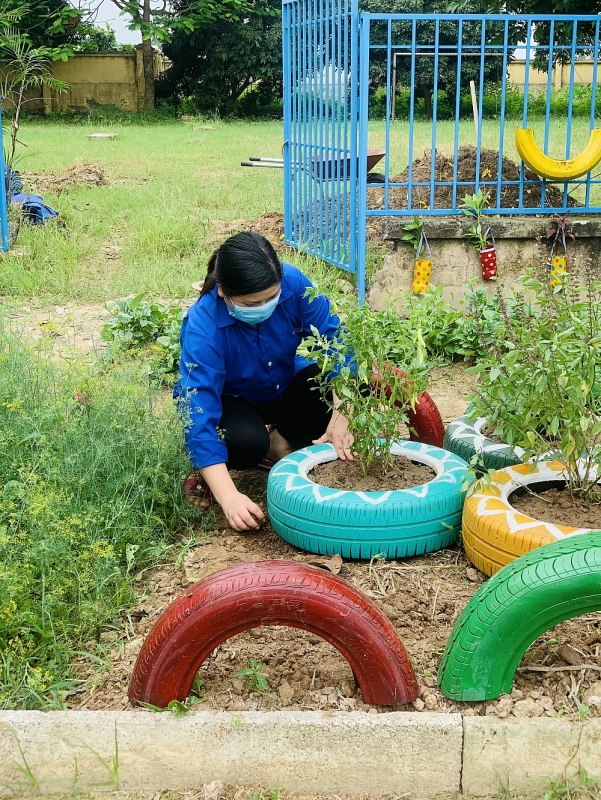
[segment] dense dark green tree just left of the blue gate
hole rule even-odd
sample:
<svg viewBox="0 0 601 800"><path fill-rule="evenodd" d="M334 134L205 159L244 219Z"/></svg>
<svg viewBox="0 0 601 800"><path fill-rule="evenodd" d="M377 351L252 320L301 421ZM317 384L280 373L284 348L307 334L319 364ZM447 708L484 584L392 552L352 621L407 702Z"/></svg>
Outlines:
<svg viewBox="0 0 601 800"><path fill-rule="evenodd" d="M282 94L281 0L253 0L237 22L178 31L165 54L173 66L161 79L164 97L193 97L200 111L224 116L256 87L267 104Z"/></svg>

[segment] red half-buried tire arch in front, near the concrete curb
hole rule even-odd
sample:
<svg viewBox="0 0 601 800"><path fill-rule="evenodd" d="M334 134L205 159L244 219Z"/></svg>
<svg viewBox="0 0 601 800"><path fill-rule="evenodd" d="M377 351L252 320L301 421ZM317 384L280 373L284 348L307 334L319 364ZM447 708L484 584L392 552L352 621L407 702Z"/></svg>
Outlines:
<svg viewBox="0 0 601 800"><path fill-rule="evenodd" d="M232 636L287 625L320 636L349 662L366 703L410 703L419 686L397 632L361 592L318 567L256 561L191 586L142 646L129 699L165 708L184 701L204 660Z"/></svg>

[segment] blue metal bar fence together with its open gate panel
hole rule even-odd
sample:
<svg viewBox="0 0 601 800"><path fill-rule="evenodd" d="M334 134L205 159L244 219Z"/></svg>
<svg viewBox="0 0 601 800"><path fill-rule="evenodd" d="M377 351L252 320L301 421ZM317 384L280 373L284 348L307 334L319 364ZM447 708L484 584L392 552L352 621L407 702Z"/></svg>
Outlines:
<svg viewBox="0 0 601 800"><path fill-rule="evenodd" d="M283 18L285 239L356 272L361 299L370 219L458 214L463 196L478 189L489 192L491 214L601 211L595 171L553 185L527 171L514 144L516 127L534 127L544 154L569 159L580 151L581 134L588 138L601 110L600 17L359 14L357 0L284 0ZM526 71L515 119L507 70L518 47ZM592 85L584 101L587 117L575 135L583 56L592 59ZM552 115L556 62L570 64L563 117ZM542 99L530 85L530 64L547 70ZM465 119L470 80L475 120L469 102ZM491 83L499 97L494 120L485 114ZM377 87L385 93L383 121L370 120ZM403 120L395 108L399 88L406 102ZM468 174L460 163L466 145L473 151ZM368 169L374 154L375 160L383 155L378 176Z"/></svg>

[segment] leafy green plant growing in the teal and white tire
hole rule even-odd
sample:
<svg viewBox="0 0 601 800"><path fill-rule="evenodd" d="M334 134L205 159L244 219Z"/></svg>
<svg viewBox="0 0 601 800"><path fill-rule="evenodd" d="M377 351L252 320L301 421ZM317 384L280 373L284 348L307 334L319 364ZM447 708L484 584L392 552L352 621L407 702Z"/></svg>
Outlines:
<svg viewBox="0 0 601 800"><path fill-rule="evenodd" d="M403 406L414 406L426 387L421 331L409 330L392 309L348 304L339 313L344 327L337 340L329 342L313 329L299 353L317 362L322 390L331 386L338 397L363 474L376 458L385 472L394 458L390 444L399 438L400 423L407 422Z"/></svg>

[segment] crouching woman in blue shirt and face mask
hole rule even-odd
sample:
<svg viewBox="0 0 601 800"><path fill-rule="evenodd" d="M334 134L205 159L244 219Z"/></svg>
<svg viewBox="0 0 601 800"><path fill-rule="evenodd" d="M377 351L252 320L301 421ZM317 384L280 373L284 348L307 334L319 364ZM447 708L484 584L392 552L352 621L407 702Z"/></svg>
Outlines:
<svg viewBox="0 0 601 800"><path fill-rule="evenodd" d="M333 338L340 325L326 297L306 297L311 286L300 270L280 264L263 236L239 233L212 255L184 319L175 393L188 414L186 445L202 475L204 505L215 497L235 530L257 528L264 515L229 470L322 442L352 459L347 420L332 410L336 398L323 397L317 366L296 354L311 327Z"/></svg>

